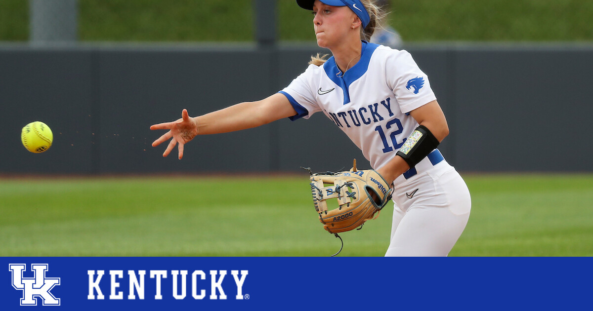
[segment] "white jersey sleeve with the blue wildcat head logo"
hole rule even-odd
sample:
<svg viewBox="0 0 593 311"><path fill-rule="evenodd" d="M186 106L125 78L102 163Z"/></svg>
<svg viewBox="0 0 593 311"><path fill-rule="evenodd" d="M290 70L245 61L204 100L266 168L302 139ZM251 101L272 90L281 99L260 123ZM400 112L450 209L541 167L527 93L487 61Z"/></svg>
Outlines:
<svg viewBox="0 0 593 311"><path fill-rule="evenodd" d="M385 66L387 83L400 105L401 112L409 113L436 100L428 76L416 65L412 55L405 50L388 57Z"/></svg>

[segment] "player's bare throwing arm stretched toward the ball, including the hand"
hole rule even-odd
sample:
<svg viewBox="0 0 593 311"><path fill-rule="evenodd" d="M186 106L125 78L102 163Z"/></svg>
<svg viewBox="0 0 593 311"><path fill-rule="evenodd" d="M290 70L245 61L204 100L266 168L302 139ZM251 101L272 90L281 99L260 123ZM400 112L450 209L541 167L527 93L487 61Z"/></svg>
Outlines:
<svg viewBox="0 0 593 311"><path fill-rule="evenodd" d="M152 143L158 146L171 139L162 156L168 156L177 145L178 158L183 158L183 148L197 135L235 132L262 126L281 118L292 117L297 111L285 95L276 93L260 101L241 102L198 117L189 117L187 110L173 122L154 124L151 130L169 130Z"/></svg>

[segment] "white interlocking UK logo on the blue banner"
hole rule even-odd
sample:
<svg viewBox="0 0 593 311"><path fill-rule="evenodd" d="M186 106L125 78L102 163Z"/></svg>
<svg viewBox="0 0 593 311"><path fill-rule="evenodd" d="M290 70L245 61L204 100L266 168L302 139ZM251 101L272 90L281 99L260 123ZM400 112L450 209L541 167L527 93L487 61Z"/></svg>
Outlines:
<svg viewBox="0 0 593 311"><path fill-rule="evenodd" d="M33 277L25 278L25 264L8 265L8 270L12 272L12 287L23 291L21 306L37 306L37 298L43 300L43 306L60 305L60 299L50 293L54 286L60 285L60 278L47 278L47 267L47 264L31 264Z"/></svg>

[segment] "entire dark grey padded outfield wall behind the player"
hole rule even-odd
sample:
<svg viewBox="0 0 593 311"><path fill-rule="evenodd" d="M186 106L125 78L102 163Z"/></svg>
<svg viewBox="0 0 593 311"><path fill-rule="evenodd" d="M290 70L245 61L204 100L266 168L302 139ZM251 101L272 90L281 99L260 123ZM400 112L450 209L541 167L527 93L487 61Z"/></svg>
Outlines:
<svg viewBox="0 0 593 311"><path fill-rule="evenodd" d="M441 145L466 172L593 171L593 45L406 46L448 118ZM275 172L349 168L362 153L323 114L197 137L162 158L149 126L282 89L317 46L0 45L0 174ZM322 51L323 52L323 51ZM27 152L40 120L55 142Z"/></svg>

